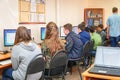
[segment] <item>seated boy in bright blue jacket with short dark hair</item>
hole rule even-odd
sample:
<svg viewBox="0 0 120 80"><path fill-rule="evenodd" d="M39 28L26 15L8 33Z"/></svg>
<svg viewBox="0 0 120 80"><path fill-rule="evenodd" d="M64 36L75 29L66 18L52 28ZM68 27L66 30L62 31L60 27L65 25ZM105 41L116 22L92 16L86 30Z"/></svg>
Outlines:
<svg viewBox="0 0 120 80"><path fill-rule="evenodd" d="M78 25L78 33L80 35L80 39L83 42L83 45L87 42L90 41L90 33L85 31L85 24L79 24Z"/></svg>

